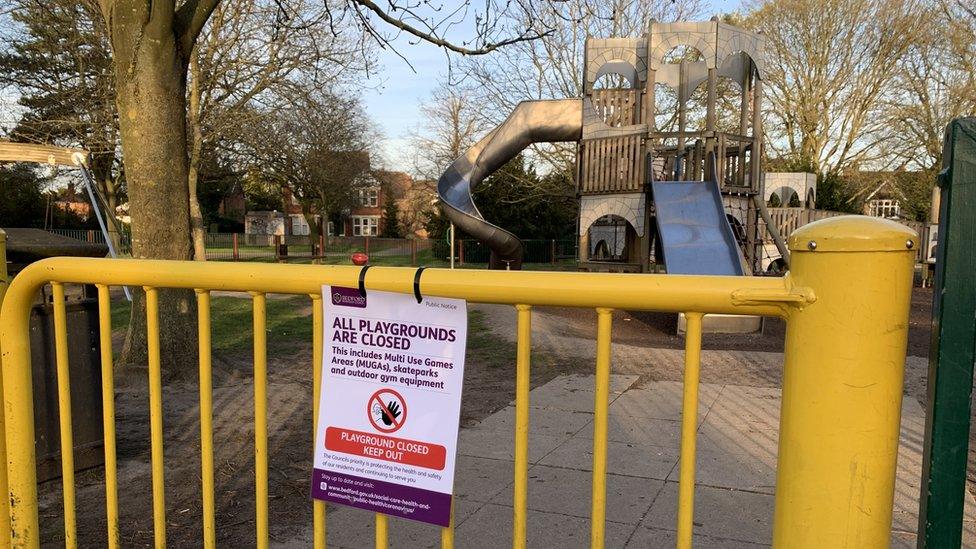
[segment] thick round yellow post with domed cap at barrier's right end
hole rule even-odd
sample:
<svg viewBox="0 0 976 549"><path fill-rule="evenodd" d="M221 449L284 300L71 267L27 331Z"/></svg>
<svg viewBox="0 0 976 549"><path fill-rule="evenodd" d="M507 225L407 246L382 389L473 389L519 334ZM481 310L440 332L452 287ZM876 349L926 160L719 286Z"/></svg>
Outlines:
<svg viewBox="0 0 976 549"><path fill-rule="evenodd" d="M816 301L787 320L773 546L888 547L918 236L844 216L789 239L791 283Z"/></svg>

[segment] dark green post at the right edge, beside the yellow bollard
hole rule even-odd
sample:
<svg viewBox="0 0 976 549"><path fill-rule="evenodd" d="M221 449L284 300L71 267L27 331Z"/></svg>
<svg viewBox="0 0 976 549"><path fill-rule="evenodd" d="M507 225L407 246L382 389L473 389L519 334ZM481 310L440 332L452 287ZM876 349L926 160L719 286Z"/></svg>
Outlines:
<svg viewBox="0 0 976 549"><path fill-rule="evenodd" d="M946 130L933 288L919 547L962 546L976 361L976 118Z"/></svg>

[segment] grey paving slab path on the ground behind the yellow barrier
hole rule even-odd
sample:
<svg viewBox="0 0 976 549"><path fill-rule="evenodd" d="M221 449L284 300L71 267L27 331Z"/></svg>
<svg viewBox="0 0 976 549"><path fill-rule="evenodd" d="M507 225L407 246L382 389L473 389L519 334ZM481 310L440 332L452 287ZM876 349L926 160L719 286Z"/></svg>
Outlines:
<svg viewBox="0 0 976 549"><path fill-rule="evenodd" d="M611 379L607 547L674 547L681 384ZM768 547L772 540L780 391L703 383L698 415L695 546ZM593 378L560 376L531 392L529 547L589 541ZM514 406L461 431L455 520L460 547L511 543ZM925 419L905 397L892 547L914 547ZM976 505L967 500L965 541L976 546ZM330 547L372 544L368 513L335 508ZM392 547L439 547L439 529L391 519ZM284 547L307 547L307 538Z"/></svg>

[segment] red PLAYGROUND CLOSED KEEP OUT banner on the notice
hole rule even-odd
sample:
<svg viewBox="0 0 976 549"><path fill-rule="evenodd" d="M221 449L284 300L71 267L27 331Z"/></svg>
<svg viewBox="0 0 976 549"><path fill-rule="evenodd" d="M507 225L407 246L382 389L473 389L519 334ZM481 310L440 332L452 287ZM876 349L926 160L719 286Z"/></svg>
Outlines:
<svg viewBox="0 0 976 549"><path fill-rule="evenodd" d="M447 449L439 444L429 444L405 438L388 437L341 427L325 430L325 447L334 452L382 459L427 469L444 469Z"/></svg>

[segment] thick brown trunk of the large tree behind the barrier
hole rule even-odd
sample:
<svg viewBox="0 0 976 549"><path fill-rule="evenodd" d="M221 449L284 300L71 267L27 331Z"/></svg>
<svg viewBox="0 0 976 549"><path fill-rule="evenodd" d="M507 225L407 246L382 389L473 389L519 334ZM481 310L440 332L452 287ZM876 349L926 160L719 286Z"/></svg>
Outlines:
<svg viewBox="0 0 976 549"><path fill-rule="evenodd" d="M136 10L126 11L116 10L112 38L132 256L188 260L185 66L171 31L150 28ZM136 292L132 305L119 361L123 371L147 362L145 294ZM194 377L195 317L192 291L160 290L160 351L168 379Z"/></svg>

